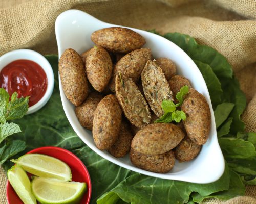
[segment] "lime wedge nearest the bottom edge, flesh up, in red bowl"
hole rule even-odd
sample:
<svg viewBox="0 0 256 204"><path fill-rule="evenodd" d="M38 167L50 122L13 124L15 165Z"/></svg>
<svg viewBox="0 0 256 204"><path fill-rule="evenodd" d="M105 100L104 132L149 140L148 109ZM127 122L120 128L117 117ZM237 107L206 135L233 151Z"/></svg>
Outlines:
<svg viewBox="0 0 256 204"><path fill-rule="evenodd" d="M35 177L31 186L36 199L44 204L79 203L86 191L86 183L65 182L42 177Z"/></svg>

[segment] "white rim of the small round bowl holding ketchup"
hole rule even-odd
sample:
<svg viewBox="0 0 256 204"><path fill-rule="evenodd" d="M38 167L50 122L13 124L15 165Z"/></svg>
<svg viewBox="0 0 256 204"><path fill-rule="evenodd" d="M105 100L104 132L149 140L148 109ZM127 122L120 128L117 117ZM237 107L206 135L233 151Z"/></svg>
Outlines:
<svg viewBox="0 0 256 204"><path fill-rule="evenodd" d="M45 95L33 106L29 107L26 114L34 113L40 108L45 106L47 101L50 99L54 87L54 75L53 70L48 60L41 54L31 49L16 49L9 53L6 53L0 57L0 71L9 63L15 60L31 60L39 64L42 69L46 72L47 76L47 89Z"/></svg>

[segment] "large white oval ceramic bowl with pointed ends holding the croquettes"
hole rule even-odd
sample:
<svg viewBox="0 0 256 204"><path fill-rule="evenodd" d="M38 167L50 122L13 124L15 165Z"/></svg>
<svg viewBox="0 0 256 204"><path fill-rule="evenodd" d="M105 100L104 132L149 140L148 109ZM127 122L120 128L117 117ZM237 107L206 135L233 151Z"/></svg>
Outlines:
<svg viewBox="0 0 256 204"><path fill-rule="evenodd" d="M79 10L68 10L61 13L55 22L59 57L67 48L73 48L78 53L82 53L91 48L94 45L90 39L91 34L98 29L112 26L113 24L102 22ZM203 145L200 154L190 162L179 163L176 161L172 171L165 174L160 174L135 167L130 162L128 155L124 158L117 159L110 155L107 151L99 150L94 144L92 132L84 129L79 124L74 112L74 106L68 101L63 93L61 81L59 79L62 105L70 124L77 135L92 150L94 150L101 157L124 168L163 179L194 183L210 183L218 180L224 172L224 158L217 139L214 112L212 110L209 92L202 74L193 60L191 60L188 55L174 43L153 33L133 28L130 29L139 33L146 39L146 44L144 47L151 48L155 58L167 57L172 59L177 66L177 73L184 75L184 77L189 79L191 85L205 96L211 111L211 129L209 139L206 144Z"/></svg>

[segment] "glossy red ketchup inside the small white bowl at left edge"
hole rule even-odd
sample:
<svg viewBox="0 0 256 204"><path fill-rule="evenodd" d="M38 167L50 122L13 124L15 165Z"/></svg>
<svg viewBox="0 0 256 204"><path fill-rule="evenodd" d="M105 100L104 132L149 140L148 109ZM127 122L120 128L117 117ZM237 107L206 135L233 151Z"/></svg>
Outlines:
<svg viewBox="0 0 256 204"><path fill-rule="evenodd" d="M18 98L30 96L29 106L33 106L46 93L46 72L31 60L15 60L1 70L0 87L10 96L15 91Z"/></svg>

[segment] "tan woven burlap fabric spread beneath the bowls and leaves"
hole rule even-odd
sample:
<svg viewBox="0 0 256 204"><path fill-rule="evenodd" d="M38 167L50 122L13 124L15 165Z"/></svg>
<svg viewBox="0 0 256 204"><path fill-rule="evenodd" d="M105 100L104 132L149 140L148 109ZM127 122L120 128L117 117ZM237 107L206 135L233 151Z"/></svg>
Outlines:
<svg viewBox="0 0 256 204"><path fill-rule="evenodd" d="M160 33L181 32L222 53L233 66L247 108L242 116L246 131L256 131L256 1L255 0L1 0L0 55L17 48L57 54L56 17L67 9L80 9L96 18ZM6 175L0 171L0 203L6 203ZM255 186L246 195L226 202L256 203Z"/></svg>

